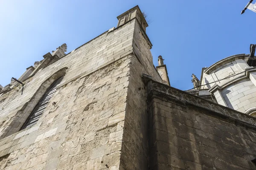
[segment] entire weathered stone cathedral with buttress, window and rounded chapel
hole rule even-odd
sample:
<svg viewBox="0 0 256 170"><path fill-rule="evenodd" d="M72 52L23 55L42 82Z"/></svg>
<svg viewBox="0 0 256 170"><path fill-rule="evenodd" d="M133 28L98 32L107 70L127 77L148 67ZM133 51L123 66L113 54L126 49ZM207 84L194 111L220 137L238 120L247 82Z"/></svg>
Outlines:
<svg viewBox="0 0 256 170"><path fill-rule="evenodd" d="M181 91L165 56L153 65L140 8L117 20L0 86L0 169L255 170L255 45Z"/></svg>

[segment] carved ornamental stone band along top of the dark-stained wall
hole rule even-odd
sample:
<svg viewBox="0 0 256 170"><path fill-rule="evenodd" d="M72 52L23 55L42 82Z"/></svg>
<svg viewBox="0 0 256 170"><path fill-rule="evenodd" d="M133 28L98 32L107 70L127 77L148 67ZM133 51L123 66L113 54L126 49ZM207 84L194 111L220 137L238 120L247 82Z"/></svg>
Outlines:
<svg viewBox="0 0 256 170"><path fill-rule="evenodd" d="M153 90L153 91L157 91L157 92L160 92L160 93L163 93L163 94L167 94L167 95L172 96L173 98L175 98L177 100L180 100L180 101L192 104L192 105L196 105L196 106L199 106L201 108L205 108L205 109L208 109L210 111L220 113L224 116L228 116L228 117L231 117L233 119L239 120L241 122L245 122L245 123L248 123L250 125L256 126L256 119L253 118L252 116L241 113L239 111L232 110L230 108L226 108L224 106L221 106L221 105L218 105L216 103L207 101L205 99L194 96L192 94L180 91L180 90L172 88L170 86L163 85L159 82L155 82L155 81L151 81L151 82L152 82L151 91Z"/></svg>

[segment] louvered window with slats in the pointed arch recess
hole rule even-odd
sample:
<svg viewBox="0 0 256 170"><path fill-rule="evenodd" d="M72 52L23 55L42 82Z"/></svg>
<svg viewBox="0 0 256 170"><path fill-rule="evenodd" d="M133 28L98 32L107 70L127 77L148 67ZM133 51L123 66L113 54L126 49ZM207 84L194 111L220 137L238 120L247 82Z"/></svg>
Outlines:
<svg viewBox="0 0 256 170"><path fill-rule="evenodd" d="M44 113L44 110L47 107L49 100L55 94L56 89L57 89L58 85L61 83L61 80L63 79L63 77L64 76L58 78L57 80L55 80L55 82L52 83L52 85L48 88L48 90L45 92L44 96L41 98L41 100L35 106L34 110L32 111L29 118L26 120L26 122L24 123L24 125L21 127L20 130L25 129L27 127L31 127L32 125L35 125L38 122L38 119Z"/></svg>

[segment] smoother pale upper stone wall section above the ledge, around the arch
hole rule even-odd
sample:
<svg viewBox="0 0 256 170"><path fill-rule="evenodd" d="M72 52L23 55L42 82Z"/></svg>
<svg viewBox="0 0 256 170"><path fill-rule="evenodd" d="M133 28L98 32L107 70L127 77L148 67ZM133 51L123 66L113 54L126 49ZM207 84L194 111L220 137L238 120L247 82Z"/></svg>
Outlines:
<svg viewBox="0 0 256 170"><path fill-rule="evenodd" d="M103 33L61 59L39 70L35 76L25 81L23 87L20 85L16 89L7 92L7 94L0 96L0 139L17 132L17 129L23 125L28 116L22 114L24 106L31 104L31 108L35 107L38 100L44 94L44 91L40 92L41 95L37 99L33 99L33 96L42 83L61 68L68 69L60 86L91 74L111 62L132 53L134 24L135 20L131 20L119 28ZM23 115L23 117L20 115ZM15 116L16 118L22 117L22 119L16 120ZM15 121L13 121L14 119ZM9 129L10 126L16 127L16 130Z"/></svg>

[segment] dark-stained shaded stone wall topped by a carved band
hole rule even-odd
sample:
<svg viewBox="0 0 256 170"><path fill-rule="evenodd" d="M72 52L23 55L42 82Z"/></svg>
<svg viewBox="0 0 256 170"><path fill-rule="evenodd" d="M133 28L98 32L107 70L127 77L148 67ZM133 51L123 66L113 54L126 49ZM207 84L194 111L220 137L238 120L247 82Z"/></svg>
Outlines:
<svg viewBox="0 0 256 170"><path fill-rule="evenodd" d="M148 112L151 170L256 169L255 118L157 82Z"/></svg>

